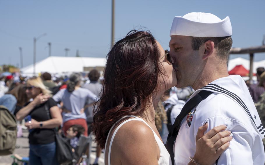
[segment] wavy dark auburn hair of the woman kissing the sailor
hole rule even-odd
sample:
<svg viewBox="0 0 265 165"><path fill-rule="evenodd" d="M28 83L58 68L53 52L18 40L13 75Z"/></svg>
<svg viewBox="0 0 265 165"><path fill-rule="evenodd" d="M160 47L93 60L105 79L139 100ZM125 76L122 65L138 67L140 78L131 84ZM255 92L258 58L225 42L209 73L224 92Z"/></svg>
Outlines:
<svg viewBox="0 0 265 165"><path fill-rule="evenodd" d="M142 114L149 105L163 74L159 59L160 50L149 31L130 31L107 54L103 89L98 107L93 108L93 131L100 148L117 120Z"/></svg>

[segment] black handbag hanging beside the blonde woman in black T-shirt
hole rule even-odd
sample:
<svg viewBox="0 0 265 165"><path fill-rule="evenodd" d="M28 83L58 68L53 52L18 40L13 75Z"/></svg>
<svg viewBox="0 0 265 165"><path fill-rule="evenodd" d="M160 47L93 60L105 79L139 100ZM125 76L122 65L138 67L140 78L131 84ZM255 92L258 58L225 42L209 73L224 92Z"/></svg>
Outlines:
<svg viewBox="0 0 265 165"><path fill-rule="evenodd" d="M45 111L49 119L51 119L50 109L47 104L45 104ZM72 146L69 144L66 138L63 138L55 128L53 129L55 133L56 142L56 157L59 164L73 164L76 162L75 154L72 151Z"/></svg>

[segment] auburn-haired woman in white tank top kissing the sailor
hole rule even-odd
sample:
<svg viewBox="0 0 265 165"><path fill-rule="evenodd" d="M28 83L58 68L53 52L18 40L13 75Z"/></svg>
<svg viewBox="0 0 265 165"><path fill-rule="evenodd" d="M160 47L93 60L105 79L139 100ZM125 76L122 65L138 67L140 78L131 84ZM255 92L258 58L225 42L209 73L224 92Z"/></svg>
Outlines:
<svg viewBox="0 0 265 165"><path fill-rule="evenodd" d="M173 62L149 32L130 31L109 51L93 119L106 165L171 164L154 118L160 96L177 84ZM203 135L206 128L199 128L196 152L190 156L213 164L228 148L229 132L220 137L225 126L218 126Z"/></svg>

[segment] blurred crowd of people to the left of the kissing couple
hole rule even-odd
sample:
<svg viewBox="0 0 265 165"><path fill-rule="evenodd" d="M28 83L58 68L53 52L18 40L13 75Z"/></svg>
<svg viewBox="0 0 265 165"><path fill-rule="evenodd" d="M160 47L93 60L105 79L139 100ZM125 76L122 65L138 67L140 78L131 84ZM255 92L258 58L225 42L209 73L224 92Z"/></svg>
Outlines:
<svg viewBox="0 0 265 165"><path fill-rule="evenodd" d="M25 120L29 130L29 164L58 164L56 132L62 132L73 148L81 134L91 133L92 107L101 91L100 73L94 69L88 77L90 82L84 82L81 74L73 73L59 84L47 72L20 81L13 76L2 78L0 105L17 121ZM100 153L98 148L93 164Z"/></svg>

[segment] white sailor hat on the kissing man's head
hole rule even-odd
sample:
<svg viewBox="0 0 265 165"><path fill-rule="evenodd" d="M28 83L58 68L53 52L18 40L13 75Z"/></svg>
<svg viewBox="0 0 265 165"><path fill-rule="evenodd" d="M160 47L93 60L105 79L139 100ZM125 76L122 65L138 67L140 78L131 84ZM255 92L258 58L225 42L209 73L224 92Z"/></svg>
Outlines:
<svg viewBox="0 0 265 165"><path fill-rule="evenodd" d="M211 13L190 12L174 17L170 37L172 35L226 37L232 35L232 26L229 17L221 20Z"/></svg>

